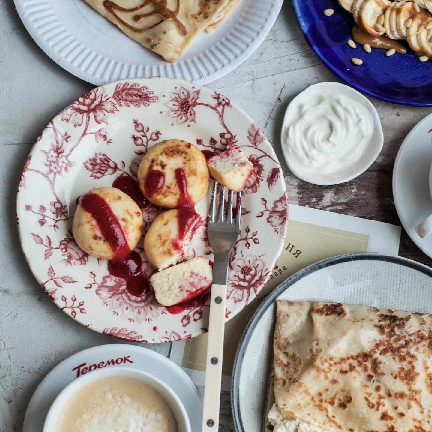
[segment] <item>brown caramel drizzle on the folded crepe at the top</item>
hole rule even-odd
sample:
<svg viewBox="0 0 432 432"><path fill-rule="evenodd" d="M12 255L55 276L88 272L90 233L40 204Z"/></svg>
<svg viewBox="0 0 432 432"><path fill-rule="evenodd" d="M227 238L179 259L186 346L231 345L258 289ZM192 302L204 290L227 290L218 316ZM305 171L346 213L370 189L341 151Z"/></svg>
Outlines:
<svg viewBox="0 0 432 432"><path fill-rule="evenodd" d="M168 19L172 19L176 25L177 29L180 32L182 36L187 35L187 29L183 25L183 23L177 18L178 12L180 10L180 0L177 0L177 7L175 10L171 10L167 7L167 0L145 0L144 3L137 7L132 7L130 9L124 8L122 6L119 6L118 4L114 3L111 0L105 0L103 5L108 9L108 11L115 16L115 18L123 24L128 29L132 30L133 32L137 33L143 33L146 32L149 29L152 29L153 27L156 27L156 25L159 25L161 22L167 21ZM121 19L115 11L120 12L137 12L141 9L143 9L146 6L153 5L154 9L152 12L149 13L143 13L143 14L137 14L132 17L133 21L140 22L145 18L148 18L149 16L158 15L161 17L161 20L159 22L156 22L156 24L150 25L149 27L146 27L144 29L140 29L138 27L134 27L133 25L130 25L128 22Z"/></svg>

